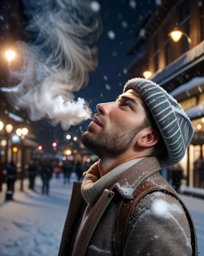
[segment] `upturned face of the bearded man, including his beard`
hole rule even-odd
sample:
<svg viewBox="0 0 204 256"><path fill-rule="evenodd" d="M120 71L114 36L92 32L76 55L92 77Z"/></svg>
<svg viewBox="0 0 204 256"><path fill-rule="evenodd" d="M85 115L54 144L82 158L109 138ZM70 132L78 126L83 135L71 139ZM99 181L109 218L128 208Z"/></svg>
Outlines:
<svg viewBox="0 0 204 256"><path fill-rule="evenodd" d="M116 101L98 104L98 114L81 141L99 158L111 158L134 146L134 138L143 128L147 107L134 90L119 95Z"/></svg>

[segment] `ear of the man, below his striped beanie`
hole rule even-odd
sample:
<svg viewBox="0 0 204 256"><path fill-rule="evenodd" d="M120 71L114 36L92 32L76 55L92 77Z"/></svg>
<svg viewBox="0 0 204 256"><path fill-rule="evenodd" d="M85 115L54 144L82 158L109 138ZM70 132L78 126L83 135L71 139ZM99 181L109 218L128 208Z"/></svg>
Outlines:
<svg viewBox="0 0 204 256"><path fill-rule="evenodd" d="M136 141L140 147L148 148L152 147L159 141L159 133L155 130L151 130L149 133L139 137Z"/></svg>

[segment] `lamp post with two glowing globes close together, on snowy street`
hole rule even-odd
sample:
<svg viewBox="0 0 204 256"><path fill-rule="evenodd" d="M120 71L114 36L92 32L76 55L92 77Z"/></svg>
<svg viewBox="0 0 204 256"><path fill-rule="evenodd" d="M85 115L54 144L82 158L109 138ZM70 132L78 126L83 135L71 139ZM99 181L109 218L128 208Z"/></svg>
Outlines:
<svg viewBox="0 0 204 256"><path fill-rule="evenodd" d="M28 134L27 128L17 129L16 134L21 138L21 191L23 191L23 180L25 178L25 147L23 145L23 140Z"/></svg>

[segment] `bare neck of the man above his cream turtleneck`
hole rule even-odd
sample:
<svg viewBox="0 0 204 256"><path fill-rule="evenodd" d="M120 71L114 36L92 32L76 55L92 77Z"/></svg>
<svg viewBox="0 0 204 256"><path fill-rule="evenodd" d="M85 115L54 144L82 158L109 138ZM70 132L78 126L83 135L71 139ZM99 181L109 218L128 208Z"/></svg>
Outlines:
<svg viewBox="0 0 204 256"><path fill-rule="evenodd" d="M117 166L126 163L127 161L145 157L145 154L134 154L134 155L119 155L115 158L101 158L99 159L99 172L101 177L113 170Z"/></svg>

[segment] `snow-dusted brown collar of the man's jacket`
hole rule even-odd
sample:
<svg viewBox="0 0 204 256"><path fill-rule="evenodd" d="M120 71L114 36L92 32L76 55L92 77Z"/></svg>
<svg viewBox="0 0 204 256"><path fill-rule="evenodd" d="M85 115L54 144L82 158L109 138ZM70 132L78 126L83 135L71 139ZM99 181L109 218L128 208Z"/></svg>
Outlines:
<svg viewBox="0 0 204 256"><path fill-rule="evenodd" d="M105 187L108 190L114 188L127 199L133 199L139 186L151 175L161 170L156 157L146 157L115 177Z"/></svg>

